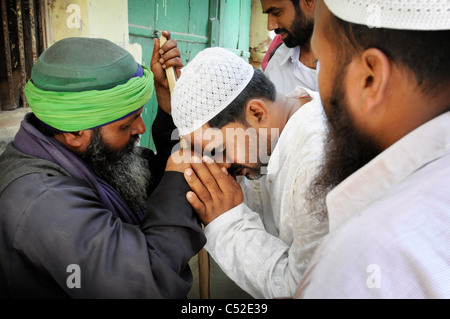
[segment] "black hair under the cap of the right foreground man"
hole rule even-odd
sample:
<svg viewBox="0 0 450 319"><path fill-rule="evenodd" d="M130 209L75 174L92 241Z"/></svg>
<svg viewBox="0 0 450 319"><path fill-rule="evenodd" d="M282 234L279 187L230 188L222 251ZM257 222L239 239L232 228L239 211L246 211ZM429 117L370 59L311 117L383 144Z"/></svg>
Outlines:
<svg viewBox="0 0 450 319"><path fill-rule="evenodd" d="M346 66L356 53L377 48L394 63L411 70L424 92L439 92L450 80L450 30L412 31L369 28L331 14L327 37Z"/></svg>

